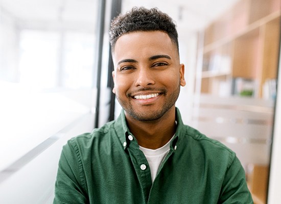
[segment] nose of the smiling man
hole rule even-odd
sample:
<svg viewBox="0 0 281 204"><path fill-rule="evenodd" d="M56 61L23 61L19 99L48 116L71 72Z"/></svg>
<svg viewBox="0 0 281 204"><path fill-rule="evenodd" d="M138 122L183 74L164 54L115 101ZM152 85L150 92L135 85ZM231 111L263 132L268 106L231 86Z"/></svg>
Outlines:
<svg viewBox="0 0 281 204"><path fill-rule="evenodd" d="M135 86L147 87L155 84L152 71L149 68L140 68L136 72Z"/></svg>

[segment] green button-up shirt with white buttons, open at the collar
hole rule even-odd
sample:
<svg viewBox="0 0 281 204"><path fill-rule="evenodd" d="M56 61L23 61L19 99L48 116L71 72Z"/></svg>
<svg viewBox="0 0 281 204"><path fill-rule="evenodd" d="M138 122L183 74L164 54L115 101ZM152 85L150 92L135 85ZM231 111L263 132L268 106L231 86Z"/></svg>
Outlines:
<svg viewBox="0 0 281 204"><path fill-rule="evenodd" d="M253 203L235 153L184 125L178 109L176 116L169 154L153 183L124 111L69 140L59 161L54 203Z"/></svg>

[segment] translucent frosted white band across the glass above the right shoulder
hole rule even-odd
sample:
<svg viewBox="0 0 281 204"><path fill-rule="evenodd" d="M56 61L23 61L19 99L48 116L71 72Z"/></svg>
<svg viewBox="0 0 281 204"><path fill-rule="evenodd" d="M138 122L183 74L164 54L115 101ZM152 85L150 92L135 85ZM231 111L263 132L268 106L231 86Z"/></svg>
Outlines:
<svg viewBox="0 0 281 204"><path fill-rule="evenodd" d="M273 102L202 94L191 125L235 151L247 172L249 164L270 162Z"/></svg>

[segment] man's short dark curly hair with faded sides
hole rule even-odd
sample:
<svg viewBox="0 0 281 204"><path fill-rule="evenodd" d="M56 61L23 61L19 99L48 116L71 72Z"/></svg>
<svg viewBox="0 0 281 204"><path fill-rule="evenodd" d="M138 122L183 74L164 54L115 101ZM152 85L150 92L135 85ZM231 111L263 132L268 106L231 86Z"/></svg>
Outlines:
<svg viewBox="0 0 281 204"><path fill-rule="evenodd" d="M157 8L133 7L131 11L116 16L110 25L109 37L112 51L119 37L136 31L163 31L178 45L178 33L173 19Z"/></svg>

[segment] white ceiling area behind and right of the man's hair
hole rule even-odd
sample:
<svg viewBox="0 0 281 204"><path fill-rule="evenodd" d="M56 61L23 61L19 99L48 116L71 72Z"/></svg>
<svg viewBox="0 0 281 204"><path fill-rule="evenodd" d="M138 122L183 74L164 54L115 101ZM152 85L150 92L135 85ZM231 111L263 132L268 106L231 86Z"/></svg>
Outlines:
<svg viewBox="0 0 281 204"><path fill-rule="evenodd" d="M200 30L238 0L123 0L123 11L133 6L157 7L177 23L179 32Z"/></svg>

